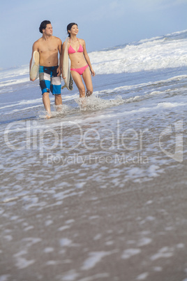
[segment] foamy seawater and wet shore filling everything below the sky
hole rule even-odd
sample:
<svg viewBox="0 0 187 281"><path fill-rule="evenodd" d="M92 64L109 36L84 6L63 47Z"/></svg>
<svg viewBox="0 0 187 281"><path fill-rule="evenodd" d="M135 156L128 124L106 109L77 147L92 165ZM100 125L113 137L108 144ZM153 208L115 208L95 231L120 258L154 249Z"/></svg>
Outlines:
<svg viewBox="0 0 187 281"><path fill-rule="evenodd" d="M0 71L0 280L186 280L187 31L89 57L50 120L29 65Z"/></svg>

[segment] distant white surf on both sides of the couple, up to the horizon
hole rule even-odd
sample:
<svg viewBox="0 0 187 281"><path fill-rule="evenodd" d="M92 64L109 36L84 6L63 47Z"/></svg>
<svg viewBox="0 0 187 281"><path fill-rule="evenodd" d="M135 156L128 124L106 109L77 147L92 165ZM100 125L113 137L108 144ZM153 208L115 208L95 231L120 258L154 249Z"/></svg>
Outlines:
<svg viewBox="0 0 187 281"><path fill-rule="evenodd" d="M111 74L187 66L186 31L145 38L128 45L90 52L93 69L96 74ZM30 82L29 65L1 71L0 87L8 85L11 87L25 82Z"/></svg>

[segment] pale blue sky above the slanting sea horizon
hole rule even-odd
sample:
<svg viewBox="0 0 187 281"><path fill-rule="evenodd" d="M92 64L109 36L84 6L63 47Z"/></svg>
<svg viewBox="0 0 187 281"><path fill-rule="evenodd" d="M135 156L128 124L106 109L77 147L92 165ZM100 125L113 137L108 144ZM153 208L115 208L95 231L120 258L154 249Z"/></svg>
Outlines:
<svg viewBox="0 0 187 281"><path fill-rule="evenodd" d="M62 42L76 22L78 38L92 52L185 30L186 11L187 0L3 0L0 69L29 64L43 20Z"/></svg>

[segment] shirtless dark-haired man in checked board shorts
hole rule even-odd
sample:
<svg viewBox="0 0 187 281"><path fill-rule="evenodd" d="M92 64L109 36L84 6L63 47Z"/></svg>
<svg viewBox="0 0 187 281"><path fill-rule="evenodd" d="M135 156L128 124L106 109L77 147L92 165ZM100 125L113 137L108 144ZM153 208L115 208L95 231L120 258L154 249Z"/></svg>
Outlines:
<svg viewBox="0 0 187 281"><path fill-rule="evenodd" d="M47 111L47 118L51 117L50 91L54 95L55 105L61 106L61 39L52 36L52 24L49 20L44 20L40 24L39 31L43 36L33 43L33 50L30 62L30 70L33 52L40 54L39 79L40 88L43 95L43 104Z"/></svg>

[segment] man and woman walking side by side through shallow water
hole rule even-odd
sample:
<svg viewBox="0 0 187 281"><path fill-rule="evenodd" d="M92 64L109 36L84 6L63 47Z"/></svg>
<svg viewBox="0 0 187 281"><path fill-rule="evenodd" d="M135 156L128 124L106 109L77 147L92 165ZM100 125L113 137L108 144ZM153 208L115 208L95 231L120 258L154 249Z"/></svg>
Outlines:
<svg viewBox="0 0 187 281"><path fill-rule="evenodd" d="M63 73L63 57L66 43L68 44L67 50L70 58L70 74L80 92L83 105L85 96L90 96L93 92L91 75L94 76L95 73L91 67L85 41L77 38L79 29L75 22L68 24L68 40L63 42L63 44L60 38L52 36L52 24L49 20L41 22L39 30L43 36L33 43L30 70L33 52L38 51L40 54L40 88L43 95L43 104L47 112L46 117L50 118L50 91L54 95L55 105L58 107L62 104L61 75L63 79L66 79L65 73ZM87 90L85 90L82 79L84 80Z"/></svg>

